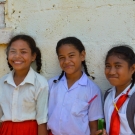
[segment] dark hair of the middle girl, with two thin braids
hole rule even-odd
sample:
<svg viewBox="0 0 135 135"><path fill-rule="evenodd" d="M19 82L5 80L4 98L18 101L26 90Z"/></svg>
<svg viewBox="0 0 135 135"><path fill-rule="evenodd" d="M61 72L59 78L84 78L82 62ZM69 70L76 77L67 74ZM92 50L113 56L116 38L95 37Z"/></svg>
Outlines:
<svg viewBox="0 0 135 135"><path fill-rule="evenodd" d="M84 45L82 44L82 42L79 39L77 39L76 37L66 37L66 38L63 38L63 39L58 41L57 46L56 46L57 55L58 55L59 48L62 45L65 45L65 44L72 44L80 53L82 51L85 51ZM87 69L87 65L86 65L85 60L82 61L82 65L84 67L84 71L85 71L86 75L90 76L90 74L88 73L88 69ZM64 71L62 71L62 73L59 76L58 80L54 80L54 82L56 83L57 81L59 81L62 78L63 75L64 75ZM92 77L92 79L94 79L93 76L91 76L91 77Z"/></svg>

